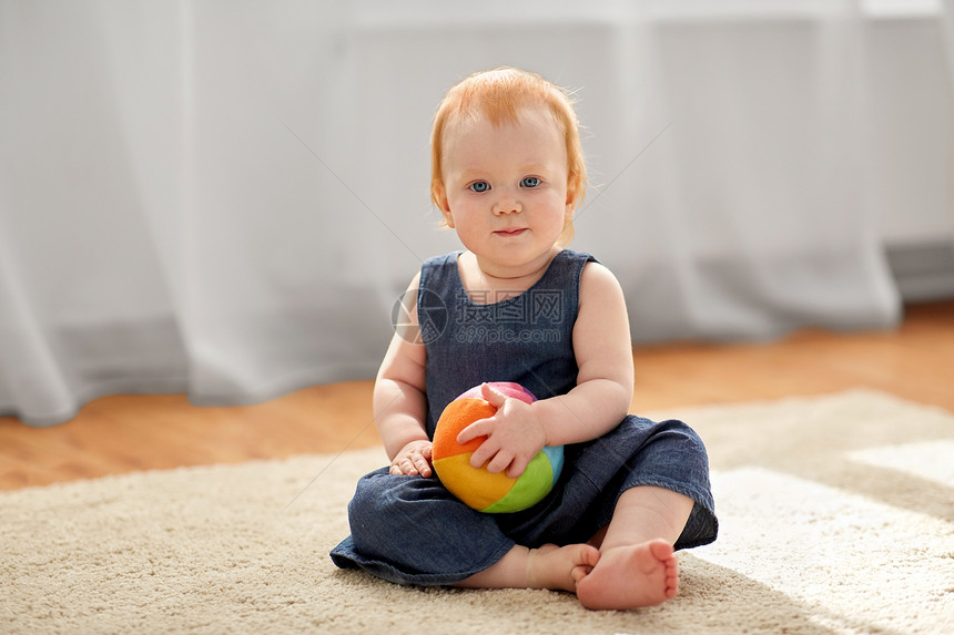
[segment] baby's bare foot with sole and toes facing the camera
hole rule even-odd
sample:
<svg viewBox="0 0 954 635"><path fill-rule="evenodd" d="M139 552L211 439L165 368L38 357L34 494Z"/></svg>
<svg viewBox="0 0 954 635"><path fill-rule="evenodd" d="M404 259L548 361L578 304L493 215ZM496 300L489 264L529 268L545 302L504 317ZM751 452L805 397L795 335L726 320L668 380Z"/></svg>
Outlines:
<svg viewBox="0 0 954 635"><path fill-rule="evenodd" d="M663 540L600 552L592 572L577 583L577 597L587 608L654 606L678 591L679 563Z"/></svg>

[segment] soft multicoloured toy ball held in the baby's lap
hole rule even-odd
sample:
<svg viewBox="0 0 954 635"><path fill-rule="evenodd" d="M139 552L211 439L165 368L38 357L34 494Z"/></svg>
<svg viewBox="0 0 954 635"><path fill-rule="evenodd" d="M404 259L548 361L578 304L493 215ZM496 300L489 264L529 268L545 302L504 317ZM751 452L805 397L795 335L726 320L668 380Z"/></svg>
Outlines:
<svg viewBox="0 0 954 635"><path fill-rule="evenodd" d="M498 392L527 403L537 400L519 383L494 381L489 385ZM486 468L473 467L470 454L486 437L461 445L457 442L457 434L474 421L493 417L496 411L483 398L479 386L448 403L437 421L432 462L444 487L467 505L487 513L518 512L537 504L554 489L564 467L564 448L545 447L516 479L505 472L491 474Z"/></svg>

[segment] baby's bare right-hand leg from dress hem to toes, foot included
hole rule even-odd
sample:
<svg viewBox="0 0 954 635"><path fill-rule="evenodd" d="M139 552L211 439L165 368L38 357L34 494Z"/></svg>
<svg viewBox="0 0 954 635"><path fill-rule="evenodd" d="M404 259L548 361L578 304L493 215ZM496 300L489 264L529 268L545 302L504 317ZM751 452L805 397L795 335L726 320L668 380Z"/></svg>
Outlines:
<svg viewBox="0 0 954 635"><path fill-rule="evenodd" d="M623 492L599 543L590 573L577 570L577 597L587 608L652 606L679 591L679 564L672 545L692 511L688 496L663 488ZM602 539L600 541L600 537Z"/></svg>

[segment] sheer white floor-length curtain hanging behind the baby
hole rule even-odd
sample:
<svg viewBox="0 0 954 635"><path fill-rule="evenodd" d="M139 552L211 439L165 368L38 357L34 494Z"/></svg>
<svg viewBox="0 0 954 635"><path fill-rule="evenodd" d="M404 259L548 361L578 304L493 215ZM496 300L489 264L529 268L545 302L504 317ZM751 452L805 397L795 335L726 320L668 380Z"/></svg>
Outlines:
<svg viewBox="0 0 954 635"><path fill-rule="evenodd" d="M866 29L838 0L7 0L0 414L373 377L398 294L458 247L432 114L497 65L578 90L572 246L636 341L891 326Z"/></svg>

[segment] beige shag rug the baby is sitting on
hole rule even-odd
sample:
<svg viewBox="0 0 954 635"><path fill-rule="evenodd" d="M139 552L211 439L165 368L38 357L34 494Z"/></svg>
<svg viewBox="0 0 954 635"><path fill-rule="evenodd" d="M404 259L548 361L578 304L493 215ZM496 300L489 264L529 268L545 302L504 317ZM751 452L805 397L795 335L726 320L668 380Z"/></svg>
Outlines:
<svg viewBox="0 0 954 635"><path fill-rule="evenodd" d="M2 633L954 633L954 414L865 390L654 412L712 460L680 595L400 587L338 571L380 449L0 494Z"/></svg>

